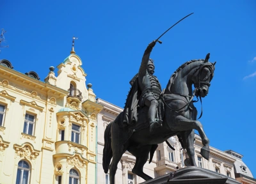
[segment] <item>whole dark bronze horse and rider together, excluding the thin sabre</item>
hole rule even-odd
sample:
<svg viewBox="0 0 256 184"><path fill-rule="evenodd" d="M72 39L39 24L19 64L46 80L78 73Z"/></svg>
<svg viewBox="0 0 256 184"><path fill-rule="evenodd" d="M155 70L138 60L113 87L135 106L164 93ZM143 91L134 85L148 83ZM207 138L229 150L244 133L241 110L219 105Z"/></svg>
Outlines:
<svg viewBox="0 0 256 184"><path fill-rule="evenodd" d="M132 87L124 111L105 130L103 168L105 173L109 169L111 184L115 183L117 164L125 151L136 157L132 173L144 180L152 179L143 173L148 154L151 162L157 144L173 135L179 137L182 147L188 153L190 164L196 166L194 129L198 130L204 145L200 154L209 159L209 139L200 121L196 120L193 97L205 97L208 94L215 63L208 61L210 54L205 59L184 63L170 77L166 89L161 91L159 81L153 75L154 63L149 59L156 42L154 40L148 45L140 70L130 82Z"/></svg>

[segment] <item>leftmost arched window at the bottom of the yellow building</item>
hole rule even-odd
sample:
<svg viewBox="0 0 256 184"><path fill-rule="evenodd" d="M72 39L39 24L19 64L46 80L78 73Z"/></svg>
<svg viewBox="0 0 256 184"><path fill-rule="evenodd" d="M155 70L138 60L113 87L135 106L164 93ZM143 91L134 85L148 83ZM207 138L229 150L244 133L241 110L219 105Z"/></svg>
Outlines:
<svg viewBox="0 0 256 184"><path fill-rule="evenodd" d="M21 160L18 164L16 184L28 184L30 175L30 167L28 162Z"/></svg>

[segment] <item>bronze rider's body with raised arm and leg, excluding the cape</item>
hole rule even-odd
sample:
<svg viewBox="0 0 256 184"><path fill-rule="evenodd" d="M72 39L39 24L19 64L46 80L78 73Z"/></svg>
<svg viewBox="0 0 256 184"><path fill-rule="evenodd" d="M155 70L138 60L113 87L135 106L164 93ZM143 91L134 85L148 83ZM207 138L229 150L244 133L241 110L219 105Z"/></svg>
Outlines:
<svg viewBox="0 0 256 184"><path fill-rule="evenodd" d="M161 119L156 118L159 96L161 94L161 86L156 76L154 76L154 61L149 58L150 52L156 45L156 40L148 44L147 49L142 57L140 70L138 73L139 88L141 90L140 107L146 105L148 107L148 120L150 123L150 132L155 128L161 127Z"/></svg>

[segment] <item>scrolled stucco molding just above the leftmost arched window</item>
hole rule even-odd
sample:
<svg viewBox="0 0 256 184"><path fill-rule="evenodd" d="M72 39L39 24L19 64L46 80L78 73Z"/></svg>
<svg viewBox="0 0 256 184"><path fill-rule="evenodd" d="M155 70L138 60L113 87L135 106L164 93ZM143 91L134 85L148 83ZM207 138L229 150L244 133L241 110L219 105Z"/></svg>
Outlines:
<svg viewBox="0 0 256 184"><path fill-rule="evenodd" d="M17 156L30 158L31 160L36 159L40 153L39 150L35 150L33 145L28 142L22 144L21 146L14 144L13 148Z"/></svg>

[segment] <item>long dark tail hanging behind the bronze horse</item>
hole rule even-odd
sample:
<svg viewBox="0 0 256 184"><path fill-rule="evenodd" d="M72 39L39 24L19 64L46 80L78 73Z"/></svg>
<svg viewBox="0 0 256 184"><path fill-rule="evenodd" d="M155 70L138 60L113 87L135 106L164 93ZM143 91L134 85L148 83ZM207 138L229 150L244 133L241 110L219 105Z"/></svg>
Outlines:
<svg viewBox="0 0 256 184"><path fill-rule="evenodd" d="M108 173L109 164L111 161L111 158L113 157L113 152L111 148L111 126L112 123L109 123L109 125L106 127L106 130L104 132L104 149L103 149L103 169L105 173Z"/></svg>

